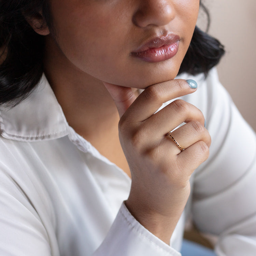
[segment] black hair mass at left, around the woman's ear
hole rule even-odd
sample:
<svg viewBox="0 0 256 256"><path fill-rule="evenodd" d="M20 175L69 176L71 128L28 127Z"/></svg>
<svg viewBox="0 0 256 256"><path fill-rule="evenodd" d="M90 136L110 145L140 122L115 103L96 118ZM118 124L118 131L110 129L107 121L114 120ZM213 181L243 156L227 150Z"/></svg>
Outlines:
<svg viewBox="0 0 256 256"><path fill-rule="evenodd" d="M44 37L25 18L39 13L41 26L51 28L47 0L0 0L0 105L18 104L41 79Z"/></svg>

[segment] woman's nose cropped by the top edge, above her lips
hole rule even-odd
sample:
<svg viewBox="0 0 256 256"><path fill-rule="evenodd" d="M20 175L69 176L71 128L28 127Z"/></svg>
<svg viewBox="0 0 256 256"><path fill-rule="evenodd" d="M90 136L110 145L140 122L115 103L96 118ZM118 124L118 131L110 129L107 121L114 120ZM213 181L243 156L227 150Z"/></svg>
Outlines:
<svg viewBox="0 0 256 256"><path fill-rule="evenodd" d="M139 27L148 25L163 26L175 17L175 9L171 0L142 0L133 15L133 23Z"/></svg>

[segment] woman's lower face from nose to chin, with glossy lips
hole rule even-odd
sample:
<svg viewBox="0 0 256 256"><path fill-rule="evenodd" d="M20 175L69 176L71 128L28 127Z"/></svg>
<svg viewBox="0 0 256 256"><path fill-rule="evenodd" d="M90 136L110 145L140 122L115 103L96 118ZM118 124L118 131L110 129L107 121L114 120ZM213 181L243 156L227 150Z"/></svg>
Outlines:
<svg viewBox="0 0 256 256"><path fill-rule="evenodd" d="M177 75L199 0L51 0L55 41L83 72L145 88Z"/></svg>

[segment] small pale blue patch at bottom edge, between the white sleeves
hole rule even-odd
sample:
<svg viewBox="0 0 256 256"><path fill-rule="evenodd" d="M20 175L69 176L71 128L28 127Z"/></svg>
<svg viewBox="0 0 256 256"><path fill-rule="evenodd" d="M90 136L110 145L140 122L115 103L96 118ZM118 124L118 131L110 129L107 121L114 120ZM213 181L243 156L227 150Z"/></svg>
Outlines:
<svg viewBox="0 0 256 256"><path fill-rule="evenodd" d="M187 240L183 240L181 254L182 256L216 256L209 248Z"/></svg>

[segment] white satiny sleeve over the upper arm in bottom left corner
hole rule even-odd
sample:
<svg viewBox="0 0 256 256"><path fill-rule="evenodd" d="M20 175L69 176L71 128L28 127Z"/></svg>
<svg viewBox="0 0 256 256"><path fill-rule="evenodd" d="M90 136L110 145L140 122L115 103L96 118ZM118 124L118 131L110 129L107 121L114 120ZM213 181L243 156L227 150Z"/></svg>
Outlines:
<svg viewBox="0 0 256 256"><path fill-rule="evenodd" d="M0 255L50 256L50 241L26 193L0 172Z"/></svg>

